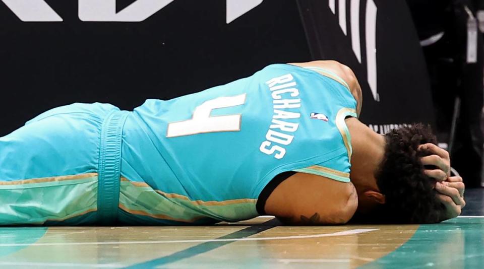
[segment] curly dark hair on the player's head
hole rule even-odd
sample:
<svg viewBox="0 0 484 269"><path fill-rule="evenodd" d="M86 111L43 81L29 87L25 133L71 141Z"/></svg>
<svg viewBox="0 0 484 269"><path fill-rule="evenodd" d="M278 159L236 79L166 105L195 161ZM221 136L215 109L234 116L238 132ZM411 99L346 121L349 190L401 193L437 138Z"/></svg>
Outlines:
<svg viewBox="0 0 484 269"><path fill-rule="evenodd" d="M421 123L394 129L385 135L385 157L375 174L386 203L378 210L378 219L387 223L436 223L444 206L436 198L435 179L423 173L418 151L421 144L437 144L430 126Z"/></svg>

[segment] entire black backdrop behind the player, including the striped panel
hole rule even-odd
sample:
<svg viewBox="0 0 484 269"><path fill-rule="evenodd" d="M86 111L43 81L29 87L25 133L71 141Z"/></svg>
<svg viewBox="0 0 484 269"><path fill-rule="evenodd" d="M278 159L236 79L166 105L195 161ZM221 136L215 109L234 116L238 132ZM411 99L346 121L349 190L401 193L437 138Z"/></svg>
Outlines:
<svg viewBox="0 0 484 269"><path fill-rule="evenodd" d="M360 1L364 14L367 1ZM375 1L379 102L371 97L366 59L355 60L351 38L328 1L265 0L229 24L225 0L175 0L143 22L83 22L76 0L45 2L62 22L23 22L0 1L0 136L59 105L98 101L133 109L147 98L197 92L269 63L322 57L355 70L364 88L362 119L369 124L383 129L433 119L425 66L403 1ZM133 2L118 0L116 8ZM347 13L349 20L349 8Z"/></svg>

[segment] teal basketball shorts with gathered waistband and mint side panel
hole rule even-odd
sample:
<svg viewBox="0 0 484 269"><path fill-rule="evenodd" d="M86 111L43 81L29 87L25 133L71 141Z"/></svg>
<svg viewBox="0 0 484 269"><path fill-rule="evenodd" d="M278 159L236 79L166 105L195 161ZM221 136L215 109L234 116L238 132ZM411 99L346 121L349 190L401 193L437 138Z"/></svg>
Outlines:
<svg viewBox="0 0 484 269"><path fill-rule="evenodd" d="M116 221L128 114L109 104L76 103L0 138L0 225Z"/></svg>

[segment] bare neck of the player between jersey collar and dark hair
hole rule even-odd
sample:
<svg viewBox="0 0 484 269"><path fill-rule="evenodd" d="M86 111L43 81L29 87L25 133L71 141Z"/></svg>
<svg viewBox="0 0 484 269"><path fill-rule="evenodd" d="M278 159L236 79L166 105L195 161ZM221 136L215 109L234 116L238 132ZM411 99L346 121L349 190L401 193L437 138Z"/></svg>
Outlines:
<svg viewBox="0 0 484 269"><path fill-rule="evenodd" d="M351 182L358 192L378 190L375 171L385 154L385 138L356 118L347 118L351 134Z"/></svg>

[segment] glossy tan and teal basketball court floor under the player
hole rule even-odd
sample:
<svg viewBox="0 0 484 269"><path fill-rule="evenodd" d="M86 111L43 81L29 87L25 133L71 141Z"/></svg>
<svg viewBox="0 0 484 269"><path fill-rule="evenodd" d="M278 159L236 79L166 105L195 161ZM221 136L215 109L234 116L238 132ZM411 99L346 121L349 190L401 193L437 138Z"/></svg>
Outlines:
<svg viewBox="0 0 484 269"><path fill-rule="evenodd" d="M484 268L483 191L470 194L474 216L432 225L0 227L0 268Z"/></svg>

